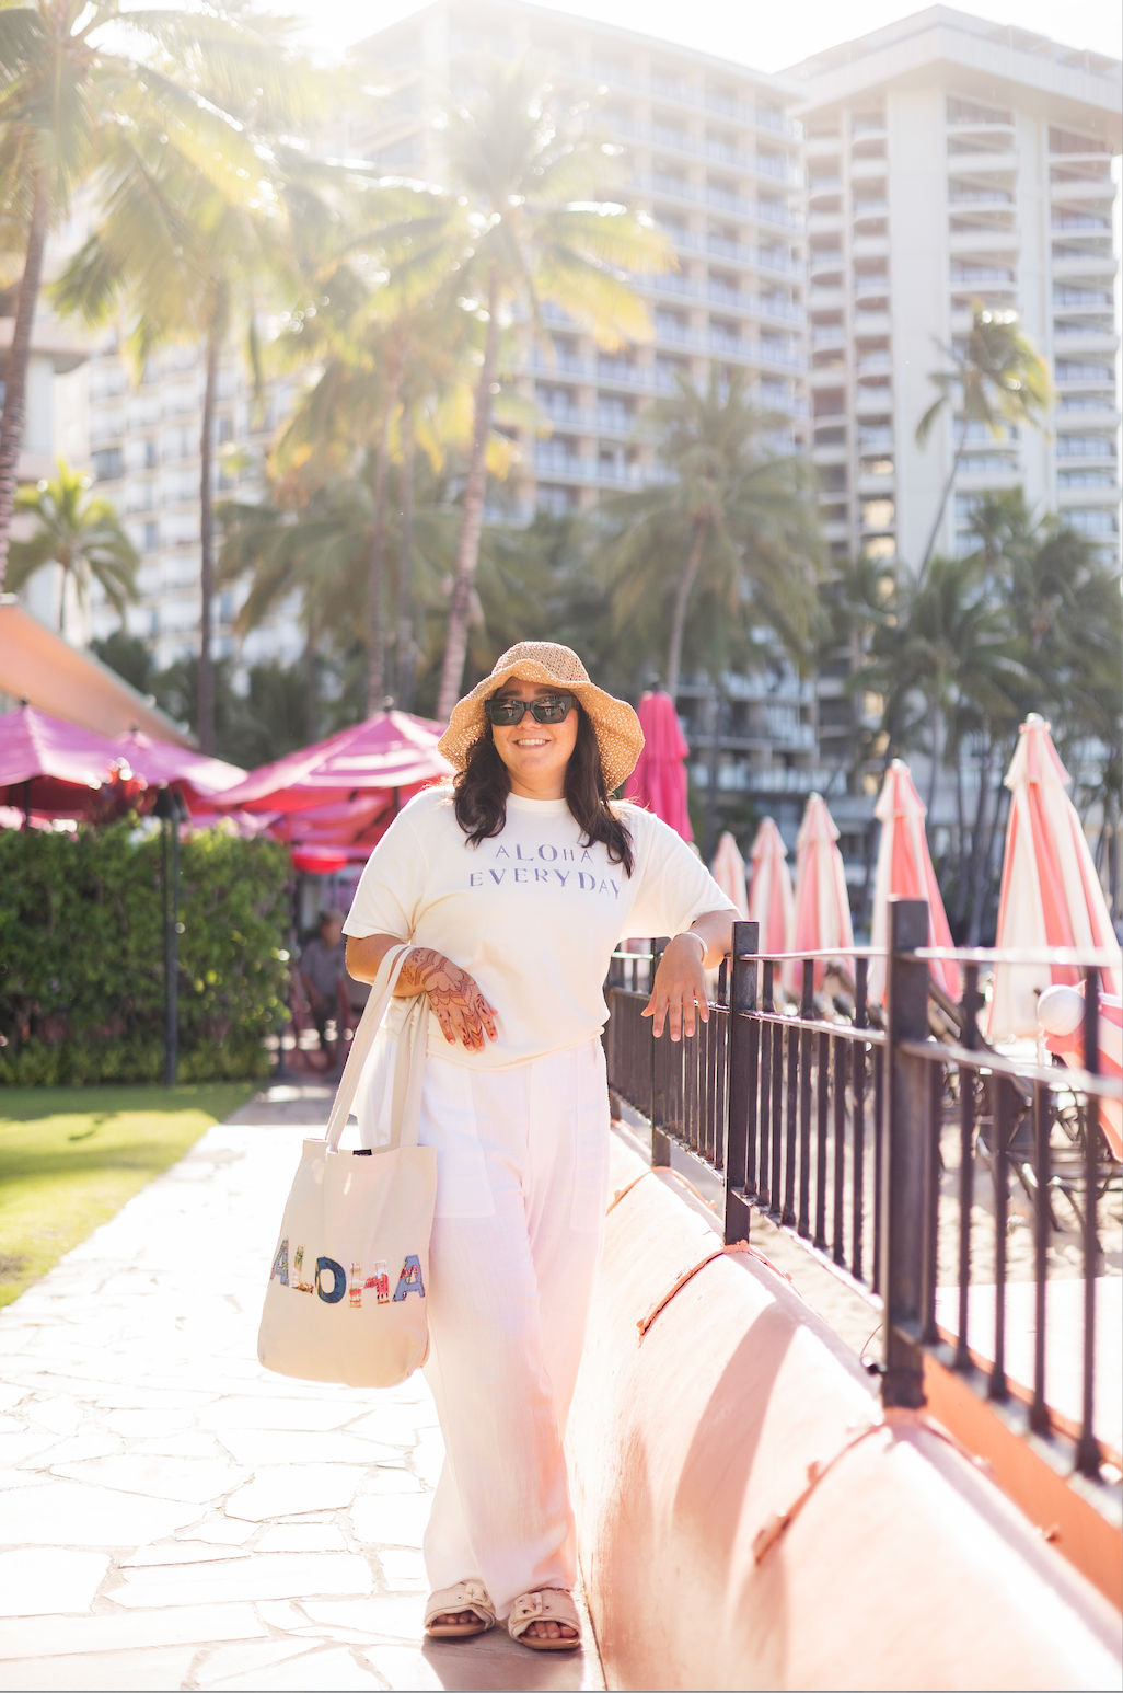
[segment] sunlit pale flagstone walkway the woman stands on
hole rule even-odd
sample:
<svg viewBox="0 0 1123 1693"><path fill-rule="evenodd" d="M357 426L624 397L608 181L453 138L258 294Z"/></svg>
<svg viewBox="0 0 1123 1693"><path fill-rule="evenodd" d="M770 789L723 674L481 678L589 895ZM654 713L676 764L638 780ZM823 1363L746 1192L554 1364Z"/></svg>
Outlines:
<svg viewBox="0 0 1123 1693"><path fill-rule="evenodd" d="M323 1087L210 1129L0 1312L0 1688L602 1688L494 1630L423 1642L443 1448L421 1376L257 1363L284 1195Z"/></svg>

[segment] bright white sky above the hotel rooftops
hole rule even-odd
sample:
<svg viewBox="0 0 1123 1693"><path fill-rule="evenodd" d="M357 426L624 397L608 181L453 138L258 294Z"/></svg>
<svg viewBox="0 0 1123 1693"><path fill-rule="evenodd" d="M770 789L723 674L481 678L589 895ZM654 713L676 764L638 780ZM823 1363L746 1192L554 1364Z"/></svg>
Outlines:
<svg viewBox="0 0 1123 1693"><path fill-rule="evenodd" d="M377 29L419 12L418 0L289 0L276 10L308 15L310 46L337 52ZM788 0L786 5L746 5L744 0L551 0L551 10L634 29L704 52L736 59L758 71L780 71L812 52L864 36L922 10L908 0ZM1123 0L976 0L959 10L996 24L1052 36L1069 47L1121 52Z"/></svg>

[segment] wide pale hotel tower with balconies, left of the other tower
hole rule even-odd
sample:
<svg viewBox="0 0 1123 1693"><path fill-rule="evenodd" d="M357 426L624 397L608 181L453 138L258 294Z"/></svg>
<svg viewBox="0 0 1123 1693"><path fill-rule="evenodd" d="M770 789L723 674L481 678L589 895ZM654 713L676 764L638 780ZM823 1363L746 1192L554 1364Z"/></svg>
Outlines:
<svg viewBox="0 0 1123 1693"><path fill-rule="evenodd" d="M480 58L528 54L560 97L587 102L590 122L622 149L626 186L607 186L648 212L673 244L678 271L638 276L655 340L612 356L546 310L553 347L526 344L519 393L550 435L519 432L507 510L567 511L661 474L636 437L638 420L677 372L702 386L710 362L749 372L754 400L781 420L775 444L810 450L807 281L800 125L795 85L746 66L567 17L519 0L435 5L360 42L387 115L353 151L384 173L440 181L441 135L433 112L472 86ZM795 823L803 796L824 786L817 764L815 686L778 648L751 677L727 677L719 786L727 801L768 796ZM680 687L698 758L712 767L709 686Z"/></svg>

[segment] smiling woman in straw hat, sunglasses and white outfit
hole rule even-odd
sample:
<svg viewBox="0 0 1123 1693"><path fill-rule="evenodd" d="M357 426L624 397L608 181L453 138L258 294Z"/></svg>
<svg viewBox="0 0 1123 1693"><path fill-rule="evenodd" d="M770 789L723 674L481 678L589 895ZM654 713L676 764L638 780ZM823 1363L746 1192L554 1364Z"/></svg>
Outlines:
<svg viewBox="0 0 1123 1693"><path fill-rule="evenodd" d="M639 757L639 720L568 647L512 647L440 747L452 789L394 819L345 924L364 980L414 941L396 992L431 1007L426 1378L446 1458L425 1622L462 1637L506 1620L524 1646L567 1651L580 1625L563 1439L607 1197L600 985L622 936L673 936L644 1016L656 1036L693 1034L736 909L673 830L609 801ZM404 1012L391 1007L375 1063L392 1062ZM379 1124L359 1117L375 1144Z"/></svg>

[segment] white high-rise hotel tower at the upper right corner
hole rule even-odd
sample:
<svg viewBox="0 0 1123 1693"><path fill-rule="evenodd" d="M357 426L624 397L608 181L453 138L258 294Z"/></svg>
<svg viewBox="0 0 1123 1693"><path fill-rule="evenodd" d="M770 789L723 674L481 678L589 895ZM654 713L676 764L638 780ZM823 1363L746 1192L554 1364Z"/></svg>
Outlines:
<svg viewBox="0 0 1123 1693"><path fill-rule="evenodd" d="M837 557L923 559L957 423L929 444L940 345L971 303L1015 308L1052 367L1047 428L969 425L937 549L971 545L983 489L1118 559L1113 239L1120 63L930 7L795 66L808 179L813 455ZM940 344L940 345L937 345Z"/></svg>

